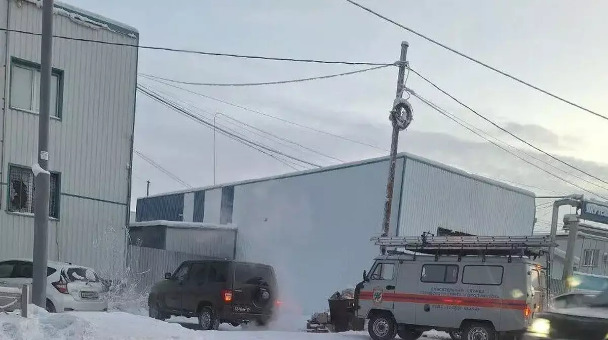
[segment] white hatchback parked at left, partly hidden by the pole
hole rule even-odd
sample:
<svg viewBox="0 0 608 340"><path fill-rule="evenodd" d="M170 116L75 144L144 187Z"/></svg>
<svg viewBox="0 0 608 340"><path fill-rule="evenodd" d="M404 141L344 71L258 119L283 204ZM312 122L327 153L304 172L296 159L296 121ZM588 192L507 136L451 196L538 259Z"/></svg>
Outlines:
<svg viewBox="0 0 608 340"><path fill-rule="evenodd" d="M0 287L21 288L32 284L31 259L0 261ZM66 262L48 262L46 310L106 311L108 302L103 296L104 286L94 270Z"/></svg>

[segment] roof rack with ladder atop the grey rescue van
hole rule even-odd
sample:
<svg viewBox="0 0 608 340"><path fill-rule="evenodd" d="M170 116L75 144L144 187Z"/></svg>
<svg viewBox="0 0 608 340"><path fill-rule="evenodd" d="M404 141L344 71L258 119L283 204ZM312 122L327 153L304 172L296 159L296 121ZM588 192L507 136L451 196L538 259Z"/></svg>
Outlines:
<svg viewBox="0 0 608 340"><path fill-rule="evenodd" d="M371 237L376 245L404 248L418 254L435 255L493 255L537 257L557 247L550 236L376 236Z"/></svg>

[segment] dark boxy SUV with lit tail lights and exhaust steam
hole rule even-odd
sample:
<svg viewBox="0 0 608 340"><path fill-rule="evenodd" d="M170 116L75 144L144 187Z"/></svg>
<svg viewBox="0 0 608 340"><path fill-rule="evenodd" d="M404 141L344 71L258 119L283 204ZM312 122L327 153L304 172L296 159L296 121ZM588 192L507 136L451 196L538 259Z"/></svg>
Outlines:
<svg viewBox="0 0 608 340"><path fill-rule="evenodd" d="M148 296L151 318L196 316L203 330L219 324L265 325L277 304L277 279L270 265L232 260L192 260L166 273Z"/></svg>

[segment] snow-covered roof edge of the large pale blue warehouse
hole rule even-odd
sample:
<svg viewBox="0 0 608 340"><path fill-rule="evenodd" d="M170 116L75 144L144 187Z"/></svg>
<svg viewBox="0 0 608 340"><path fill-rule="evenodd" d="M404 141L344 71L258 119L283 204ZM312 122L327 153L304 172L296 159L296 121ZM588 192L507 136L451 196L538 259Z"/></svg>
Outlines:
<svg viewBox="0 0 608 340"><path fill-rule="evenodd" d="M299 176L299 175L315 174L317 172L325 172L325 171L330 171L330 170L351 168L353 166L367 165L367 164L371 164L371 163L379 163L380 161L388 160L389 157L390 156L367 158L365 160L351 161L351 162L342 163L342 164L339 164L339 165L323 166L322 168L317 168L317 169L308 169L308 170L288 172L286 174L280 174L280 175L274 175L274 176L268 176L268 177L260 177L260 178L252 178L252 179L249 179L249 180L241 180L241 181L238 181L238 182L229 182L229 183L223 183L223 184L218 184L218 185L201 186L201 187L192 188L192 189L183 189L183 190L178 190L178 191L163 192L161 194L153 194L153 195L150 195L150 196L137 197L137 200L147 199L147 198L150 198L150 197L169 196L169 195L174 195L174 194L187 194L187 193L190 193L190 192L223 188L224 186L245 185L245 184L250 184L250 183L266 182L266 181L269 181L269 180L277 180L277 179L281 179L281 178L295 177L295 176ZM435 168L444 169L446 171L453 172L454 174L458 174L458 175L462 175L464 177L468 177L468 178L471 178L471 179L474 179L474 180L478 180L479 182L483 182L483 183L486 183L486 184L489 184L489 185L494 185L494 186L497 186L499 188L503 188L503 189L506 189L506 190L509 190L509 191L517 192L519 194L524 194L526 196L530 196L530 197L536 198L536 194L533 191L529 191L527 189L523 189L523 188L519 188L517 186L509 185L509 184L507 184L505 182L500 182L500 181L497 181L497 180L492 180L491 178L488 178L488 177L483 177L483 176L480 176L480 175L471 174L470 172L467 172L465 170L455 168L454 166L445 165L445 164L440 163L438 161L429 160L428 158L424 158L424 157L421 157L421 156L418 156L418 155L409 154L408 152L399 152L397 154L397 158L409 158L411 160L419 161L420 163L425 163L427 165L434 166Z"/></svg>

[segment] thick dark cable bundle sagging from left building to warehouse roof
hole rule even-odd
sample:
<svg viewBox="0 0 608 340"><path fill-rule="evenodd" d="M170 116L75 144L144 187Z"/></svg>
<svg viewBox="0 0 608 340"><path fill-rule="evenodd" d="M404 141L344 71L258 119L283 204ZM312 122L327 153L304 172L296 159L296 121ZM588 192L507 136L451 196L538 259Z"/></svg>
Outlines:
<svg viewBox="0 0 608 340"><path fill-rule="evenodd" d="M242 137L242 136L240 136L238 134L235 134L233 132L228 131L224 127L218 127L217 124L215 124L215 126L214 126L214 124L212 122L209 122L207 120L202 119L201 117L198 117L198 115L195 115L192 112L189 112L188 110L184 109L183 107L180 107L176 103L172 103L171 100L169 100L168 98L164 98L162 95L157 94L153 90L148 89L147 87L145 87L145 86L143 86L141 84L137 85L137 90L139 90L139 92L142 92L143 94L147 95L148 97L150 97L150 98L158 101L159 103L165 104L166 106L170 107L171 109L176 110L179 114L182 114L182 115L185 115L187 117L190 117L193 120L195 120L196 122L204 124L207 127L210 127L212 129L215 128L216 131L218 131L221 134L229 135L230 137L235 138L235 140L238 141L239 143L245 144L247 146L250 146L250 145L257 146L256 149L258 151L259 151L258 148L261 148L261 149L263 149L266 152L271 152L272 154L275 154L275 155L282 155L283 157L289 158L290 160L298 161L300 163L303 163L303 164L306 164L306 165L310 165L310 166L314 166L316 168L320 168L321 167L320 165L317 165L315 163L311 163L309 161L302 160L300 158L290 156L290 155L285 154L285 153L283 153L281 151L278 151L277 149L269 148L268 146L265 146L265 145L263 145L261 143L257 143L255 141L249 140L249 139L247 139L245 137ZM264 152L264 154L266 154L266 152Z"/></svg>

